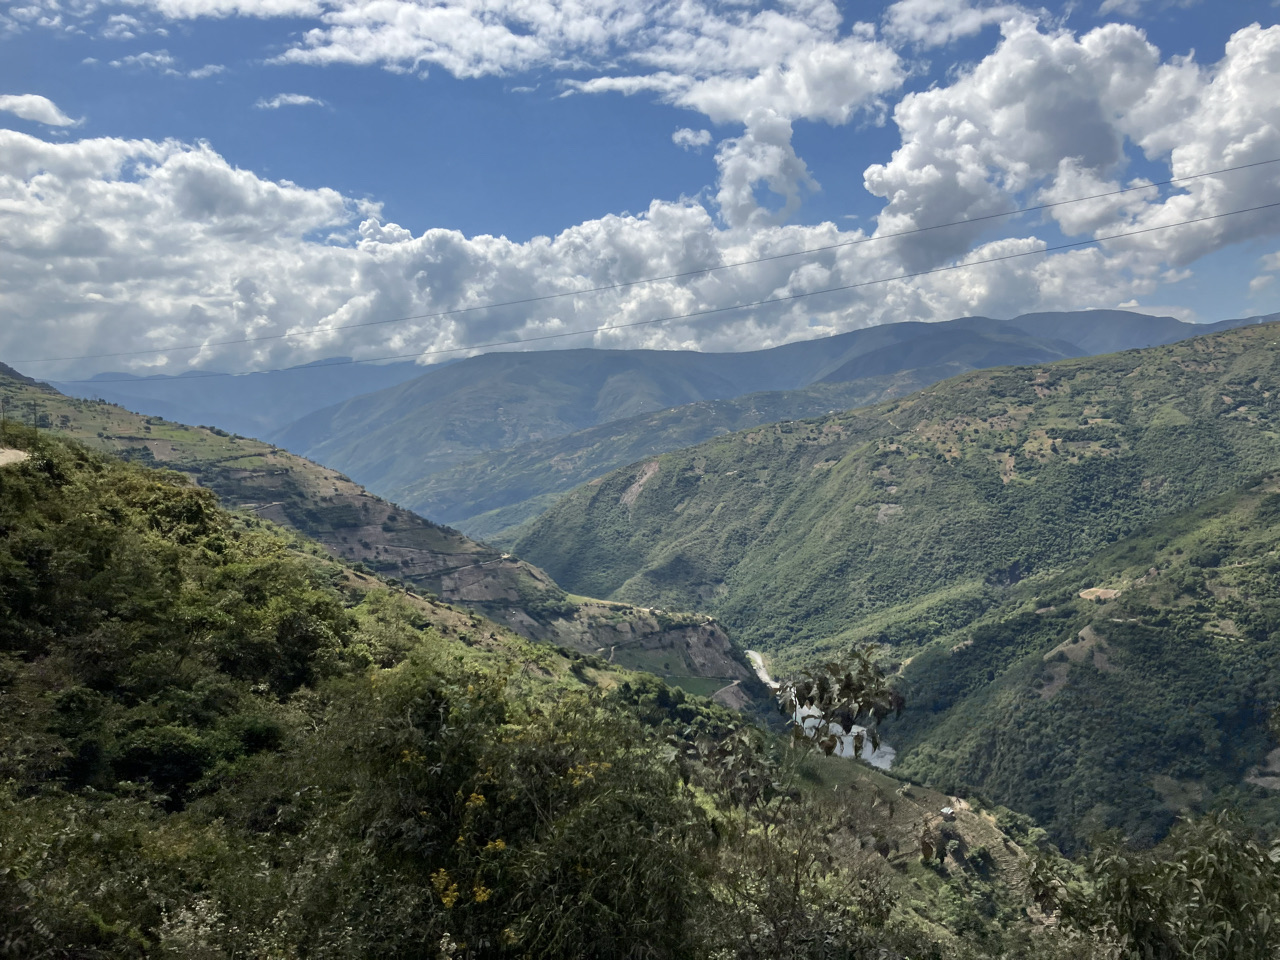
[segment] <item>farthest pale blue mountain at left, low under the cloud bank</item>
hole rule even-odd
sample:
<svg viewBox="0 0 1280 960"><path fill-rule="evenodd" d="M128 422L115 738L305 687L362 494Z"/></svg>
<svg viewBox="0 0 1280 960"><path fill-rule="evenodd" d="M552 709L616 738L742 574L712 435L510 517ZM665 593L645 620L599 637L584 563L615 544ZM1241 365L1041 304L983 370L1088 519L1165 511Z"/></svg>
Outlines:
<svg viewBox="0 0 1280 960"><path fill-rule="evenodd" d="M86 381L52 384L70 397L105 399L148 416L266 436L314 410L402 383L422 370L411 362L351 364L347 357L334 357L260 374L105 372Z"/></svg>

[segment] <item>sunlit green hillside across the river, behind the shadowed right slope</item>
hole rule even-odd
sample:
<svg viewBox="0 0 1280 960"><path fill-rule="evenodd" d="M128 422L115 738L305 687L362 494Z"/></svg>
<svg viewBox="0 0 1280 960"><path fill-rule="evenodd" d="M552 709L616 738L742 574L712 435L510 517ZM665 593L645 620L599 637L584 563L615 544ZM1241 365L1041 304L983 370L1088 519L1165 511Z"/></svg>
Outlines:
<svg viewBox="0 0 1280 960"><path fill-rule="evenodd" d="M1274 325L969 374L722 436L566 495L515 549L568 589L803 650L989 596L1280 462Z"/></svg>

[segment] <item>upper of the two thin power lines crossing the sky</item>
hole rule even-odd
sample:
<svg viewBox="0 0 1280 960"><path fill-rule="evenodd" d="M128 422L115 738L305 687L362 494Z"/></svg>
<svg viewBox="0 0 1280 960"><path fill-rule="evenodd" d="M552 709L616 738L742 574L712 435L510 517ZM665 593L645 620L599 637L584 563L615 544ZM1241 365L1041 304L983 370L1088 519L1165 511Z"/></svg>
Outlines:
<svg viewBox="0 0 1280 960"><path fill-rule="evenodd" d="M1187 182L1190 182L1190 180L1203 179L1206 177L1217 177L1217 175L1224 174L1224 173L1235 173L1238 170L1248 170L1248 169L1252 169L1252 168L1266 166L1268 164L1276 164L1276 163L1280 163L1280 157L1272 157L1270 160L1256 160L1256 161L1248 163L1248 164L1236 164L1235 166L1224 166L1224 168L1221 168L1219 170L1208 170L1206 173L1196 173L1196 174L1189 174L1187 177L1172 177L1172 178L1170 178L1167 180L1158 180L1156 183L1143 183L1143 184L1138 184L1138 186L1134 186L1134 187L1123 187L1121 189L1114 189L1114 191L1108 191L1106 193L1094 193L1094 195L1091 195L1091 196L1087 196L1087 197L1073 197L1070 200L1055 200L1055 201L1048 202L1048 204L1036 204L1033 206L1018 207L1015 210L1007 210L1007 211L1000 212L1000 214L984 214L983 216L974 216L974 218L969 218L966 220L950 220L947 223L932 224L929 227L915 227L915 228L913 228L910 230L900 230L897 233L884 233L884 234L878 234L876 237L859 237L856 239L841 241L838 243L828 243L828 244L822 246L822 247L809 247L806 250L796 250L796 251L791 251L788 253L772 253L769 256L754 257L751 260L737 260L737 261L733 261L732 264L717 264L714 266L699 268L698 270L686 270L684 273L664 274L662 276L646 276L646 278L637 279L637 280L620 280L617 283L608 283L608 284L603 284L603 285L599 285L599 287L588 287L588 288L577 289L577 291L563 291L561 293L544 293L544 294L540 294L540 296L536 296L536 297L524 297L524 298L520 298L520 300L504 300L504 301L494 301L494 302L490 302L490 303L477 303L477 305L470 306L470 307L456 307L453 310L442 310L442 311L436 311L434 314L413 314L411 316L387 317L387 319L383 319L383 320L362 320L360 323L343 324L340 326L312 326L312 328L308 328L306 330L293 330L291 333L264 334L261 337L244 337L244 338L234 339L234 340L209 340L206 343L188 343L188 344L182 344L182 346L178 346L178 347L156 347L156 348L152 348L152 349L118 351L115 353L86 353L86 355L82 355L82 356L78 356L78 357L41 357L41 358L36 358L36 360L14 360L12 362L14 362L14 364L60 364L60 362L69 362L69 361L74 361L74 360L109 360L109 358L113 358L113 357L146 356L148 353L169 353L169 352L173 352L173 351L182 351L182 349L204 349L205 347L230 347L230 346L239 346L239 344L244 344L244 343L262 343L265 340L284 340L284 339L292 339L294 337L308 337L308 335L316 334L316 333L334 333L337 330L355 330L355 329L360 329L360 328L364 328L364 326L381 326L381 325L385 325L385 324L403 324L403 323L408 323L411 320L443 320L444 317L458 316L458 315L462 315L462 314L471 314L471 312L476 312L476 311L480 311L480 310L498 310L500 307L515 307L515 306L527 306L530 303L544 303L544 302L553 301L553 300L564 300L567 297L585 297L585 296L589 296L591 293L607 293L609 291L626 289L628 287L636 287L636 285L645 284L645 283L663 283L666 280L681 280L681 279L686 279L686 278L690 278L690 276L701 276L701 275L705 275L705 274L716 273L718 270L730 270L730 269L739 268L739 266L751 266L751 265L755 265L755 264L767 264L767 262L773 262L773 261L777 261L777 260L787 260L787 259L791 259L791 257L810 256L813 253L824 253L827 251L841 250L841 248L845 248L845 247L856 247L856 246L861 246L864 243L877 243L879 241L900 239L902 237L915 237L915 236L919 236L922 233L931 233L933 230L942 230L942 229L947 229L950 227L963 227L965 224L987 223L987 221L991 221L991 220L1000 220L1000 219L1004 219L1004 218L1007 218L1007 216L1016 216L1019 214L1030 214L1030 212L1037 212L1037 211L1041 211L1041 210L1051 210L1053 207L1065 206L1065 205L1069 205L1069 204L1085 204L1085 202L1092 201L1092 200L1106 200L1106 198L1110 198L1110 197L1123 196L1125 193L1133 193L1135 191L1155 189L1157 187L1169 187L1169 186L1175 184L1175 183L1187 183ZM483 347L483 346L488 346L488 344L479 344L479 346ZM462 349L475 349L475 348L476 347L460 347L457 349L462 351ZM457 351L451 351L451 352L457 352ZM425 356L425 355L415 355L415 356ZM79 381L78 380L65 380L64 383L79 383Z"/></svg>

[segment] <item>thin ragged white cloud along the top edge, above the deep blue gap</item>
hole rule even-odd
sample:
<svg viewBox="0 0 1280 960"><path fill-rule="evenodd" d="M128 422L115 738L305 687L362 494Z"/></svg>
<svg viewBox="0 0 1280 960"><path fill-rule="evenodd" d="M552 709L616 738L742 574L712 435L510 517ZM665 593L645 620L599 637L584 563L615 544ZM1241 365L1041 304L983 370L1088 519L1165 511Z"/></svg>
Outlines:
<svg viewBox="0 0 1280 960"><path fill-rule="evenodd" d="M13 28L50 17L88 17L93 0L31 0ZM101 5L108 5L105 0ZM360 64L454 77L534 69L580 92L652 92L716 122L742 122L767 108L788 119L846 123L879 106L908 73L874 24L847 22L835 0L785 0L754 8L736 0L133 0L105 36L136 36L140 12L170 20L291 17L311 20L279 63ZM64 9L65 6L65 9ZM22 8L26 10L26 8ZM1001 8L1004 9L1004 8ZM975 14L995 15L989 9ZM934 18L936 19L936 18ZM952 18L952 31L968 29ZM141 54L118 65L169 67ZM594 77L591 76L594 74Z"/></svg>

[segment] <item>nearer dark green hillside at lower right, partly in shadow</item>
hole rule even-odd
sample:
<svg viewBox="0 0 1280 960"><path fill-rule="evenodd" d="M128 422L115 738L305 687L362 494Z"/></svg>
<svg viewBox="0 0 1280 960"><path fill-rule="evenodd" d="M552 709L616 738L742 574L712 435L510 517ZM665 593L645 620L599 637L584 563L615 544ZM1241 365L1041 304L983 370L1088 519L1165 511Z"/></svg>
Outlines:
<svg viewBox="0 0 1280 960"><path fill-rule="evenodd" d="M1280 484L1024 581L902 668L896 769L1079 845L1226 806L1280 824ZM893 631L924 625L904 620Z"/></svg>

